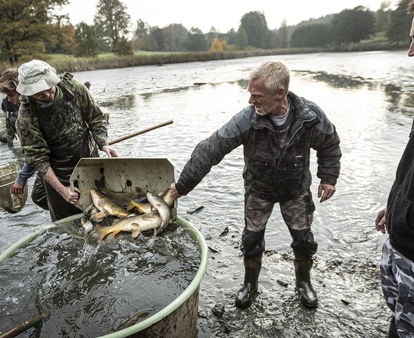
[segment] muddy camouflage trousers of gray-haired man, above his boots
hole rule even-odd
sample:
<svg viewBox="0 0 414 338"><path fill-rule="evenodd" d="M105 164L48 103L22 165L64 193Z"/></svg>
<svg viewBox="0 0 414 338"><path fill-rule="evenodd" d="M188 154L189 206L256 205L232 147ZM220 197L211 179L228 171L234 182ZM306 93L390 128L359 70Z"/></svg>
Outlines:
<svg viewBox="0 0 414 338"><path fill-rule="evenodd" d="M244 231L240 250L244 257L254 257L265 249L264 233L275 203L262 200L245 193L244 195ZM313 203L311 191L305 191L293 200L279 202L284 222L288 226L293 242L290 246L295 255L311 257L317 251L317 242L313 239Z"/></svg>

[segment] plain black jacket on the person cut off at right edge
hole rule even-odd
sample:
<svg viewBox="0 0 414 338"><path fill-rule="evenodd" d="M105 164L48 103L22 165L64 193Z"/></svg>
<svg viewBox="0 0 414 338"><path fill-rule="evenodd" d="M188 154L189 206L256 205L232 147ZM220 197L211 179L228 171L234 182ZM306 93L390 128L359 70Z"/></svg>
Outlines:
<svg viewBox="0 0 414 338"><path fill-rule="evenodd" d="M391 245L414 262L414 133L402 154L388 196L386 224Z"/></svg>

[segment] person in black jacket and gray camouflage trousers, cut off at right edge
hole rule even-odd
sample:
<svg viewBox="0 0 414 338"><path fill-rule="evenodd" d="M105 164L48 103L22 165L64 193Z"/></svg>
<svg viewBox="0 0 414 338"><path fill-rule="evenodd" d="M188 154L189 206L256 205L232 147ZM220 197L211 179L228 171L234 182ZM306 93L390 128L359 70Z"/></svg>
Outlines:
<svg viewBox="0 0 414 338"><path fill-rule="evenodd" d="M414 16L414 1L407 13ZM408 56L414 56L414 17ZM375 219L377 231L389 238L382 246L382 293L392 311L388 337L414 337L414 123L395 174L386 208Z"/></svg>

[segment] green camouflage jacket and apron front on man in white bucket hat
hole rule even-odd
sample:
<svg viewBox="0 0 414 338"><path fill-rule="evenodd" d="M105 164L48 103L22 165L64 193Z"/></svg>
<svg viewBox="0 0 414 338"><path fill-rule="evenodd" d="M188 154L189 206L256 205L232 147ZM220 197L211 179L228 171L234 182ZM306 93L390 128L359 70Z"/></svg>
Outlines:
<svg viewBox="0 0 414 338"><path fill-rule="evenodd" d="M44 175L52 167L68 179L82 157L97 157L108 145L106 118L88 89L71 74L61 76L59 95L43 106L21 96L17 133L26 162Z"/></svg>

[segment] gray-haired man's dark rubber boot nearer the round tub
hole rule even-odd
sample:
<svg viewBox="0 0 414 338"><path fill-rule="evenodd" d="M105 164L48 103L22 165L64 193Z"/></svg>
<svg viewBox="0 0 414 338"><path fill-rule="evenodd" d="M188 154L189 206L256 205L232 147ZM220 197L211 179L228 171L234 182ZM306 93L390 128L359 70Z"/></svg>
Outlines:
<svg viewBox="0 0 414 338"><path fill-rule="evenodd" d="M255 257L244 258L244 284L236 295L236 306L248 308L253 301L253 295L257 293L259 286L259 273L262 268L262 253Z"/></svg>

